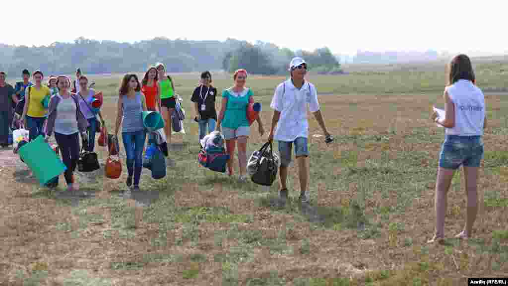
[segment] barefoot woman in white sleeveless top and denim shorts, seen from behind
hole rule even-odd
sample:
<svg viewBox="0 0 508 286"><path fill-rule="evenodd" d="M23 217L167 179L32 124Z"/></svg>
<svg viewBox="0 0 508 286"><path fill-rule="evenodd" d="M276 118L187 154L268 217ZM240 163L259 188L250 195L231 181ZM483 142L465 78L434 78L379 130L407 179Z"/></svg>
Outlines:
<svg viewBox="0 0 508 286"><path fill-rule="evenodd" d="M471 61L465 54L453 58L449 65L448 86L444 89L446 115L439 118L432 113L432 120L446 128L446 136L439 155L437 170L434 237L429 241L444 240L444 216L447 194L455 170L464 167L467 194L467 218L464 230L456 238L467 239L478 212L478 168L483 159L483 131L486 126L485 98L475 85Z"/></svg>

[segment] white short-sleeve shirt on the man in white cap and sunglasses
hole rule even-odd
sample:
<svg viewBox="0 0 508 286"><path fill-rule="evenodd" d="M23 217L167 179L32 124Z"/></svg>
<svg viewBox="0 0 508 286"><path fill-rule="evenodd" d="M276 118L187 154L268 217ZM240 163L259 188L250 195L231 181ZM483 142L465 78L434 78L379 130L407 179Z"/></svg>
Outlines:
<svg viewBox="0 0 508 286"><path fill-rule="evenodd" d="M274 140L291 142L298 137L308 137L307 104L312 113L320 109L312 83L305 81L298 90L288 79L277 86L270 104L272 109L280 112Z"/></svg>

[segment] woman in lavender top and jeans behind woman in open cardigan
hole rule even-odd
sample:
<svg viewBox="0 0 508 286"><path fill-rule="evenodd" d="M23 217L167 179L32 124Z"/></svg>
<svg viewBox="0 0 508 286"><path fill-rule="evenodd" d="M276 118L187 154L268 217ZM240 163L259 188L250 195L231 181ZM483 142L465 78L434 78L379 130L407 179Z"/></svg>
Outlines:
<svg viewBox="0 0 508 286"><path fill-rule="evenodd" d="M104 126L104 118L102 117L101 111L92 108L93 96L95 95L95 91L93 89L88 89L88 78L84 75L80 76L78 79L79 83L79 91L77 93L79 99L79 109L83 112L86 120L88 121L88 146L84 149L88 152L93 152L95 148L95 136L97 132L97 128L99 127L97 124L96 114L101 118L101 123Z"/></svg>

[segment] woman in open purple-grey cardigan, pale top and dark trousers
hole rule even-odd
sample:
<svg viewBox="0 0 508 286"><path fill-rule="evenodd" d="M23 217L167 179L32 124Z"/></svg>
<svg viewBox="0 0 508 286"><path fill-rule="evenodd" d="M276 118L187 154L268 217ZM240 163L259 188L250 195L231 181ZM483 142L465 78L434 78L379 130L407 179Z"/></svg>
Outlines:
<svg viewBox="0 0 508 286"><path fill-rule="evenodd" d="M66 165L65 180L68 191L74 191L74 170L79 159L79 135L81 133L86 144L86 122L79 108L78 97L69 92L71 79L67 76L58 76L57 85L59 93L49 101L48 122L46 124L46 141L55 132L56 143Z"/></svg>

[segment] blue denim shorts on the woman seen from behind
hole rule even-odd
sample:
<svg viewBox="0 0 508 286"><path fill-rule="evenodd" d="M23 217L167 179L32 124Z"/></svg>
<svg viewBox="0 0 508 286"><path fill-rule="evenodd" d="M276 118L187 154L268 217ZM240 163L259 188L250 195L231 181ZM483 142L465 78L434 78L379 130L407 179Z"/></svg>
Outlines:
<svg viewBox="0 0 508 286"><path fill-rule="evenodd" d="M439 154L439 167L456 170L465 167L480 167L483 159L482 136L446 135Z"/></svg>

